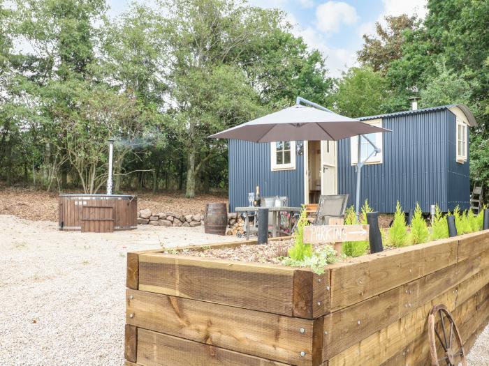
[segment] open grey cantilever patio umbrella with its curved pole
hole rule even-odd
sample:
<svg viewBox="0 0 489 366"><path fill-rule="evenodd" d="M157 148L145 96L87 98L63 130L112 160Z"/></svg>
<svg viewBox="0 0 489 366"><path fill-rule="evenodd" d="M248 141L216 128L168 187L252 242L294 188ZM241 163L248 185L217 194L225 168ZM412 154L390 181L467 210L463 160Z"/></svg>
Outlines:
<svg viewBox="0 0 489 366"><path fill-rule="evenodd" d="M307 104L300 105L300 102ZM358 119L336 114L321 105L298 97L292 107L242 123L210 137L217 139L240 139L252 142L277 141L337 141L347 137L360 136L373 147L374 151L360 162L361 144L358 144L356 213L360 210L360 170L365 162L374 154L380 153L380 148L374 145L365 135L369 133L388 132L385 128L376 127L360 122Z"/></svg>

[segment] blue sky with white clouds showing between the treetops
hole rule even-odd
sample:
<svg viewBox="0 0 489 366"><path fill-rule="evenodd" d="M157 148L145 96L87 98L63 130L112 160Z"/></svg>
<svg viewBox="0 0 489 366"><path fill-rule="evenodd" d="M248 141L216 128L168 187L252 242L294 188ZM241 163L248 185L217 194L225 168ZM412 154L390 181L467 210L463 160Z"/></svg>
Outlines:
<svg viewBox="0 0 489 366"><path fill-rule="evenodd" d="M326 56L330 75L356 66L356 52L362 47L363 34L373 34L375 22L386 15L426 15L427 0L248 0L253 6L279 8L293 24L293 33L302 36L311 48ZM129 7L131 0L108 0L109 14L117 16ZM152 5L152 0L138 0Z"/></svg>

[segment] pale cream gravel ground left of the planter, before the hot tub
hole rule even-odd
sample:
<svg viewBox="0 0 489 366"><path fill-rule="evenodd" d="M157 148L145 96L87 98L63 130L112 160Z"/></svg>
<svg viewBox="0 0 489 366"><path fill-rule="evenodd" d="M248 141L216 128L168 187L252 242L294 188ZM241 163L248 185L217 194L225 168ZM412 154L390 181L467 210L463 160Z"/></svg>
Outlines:
<svg viewBox="0 0 489 366"><path fill-rule="evenodd" d="M121 366L126 252L235 240L152 225L81 234L0 215L0 365Z"/></svg>

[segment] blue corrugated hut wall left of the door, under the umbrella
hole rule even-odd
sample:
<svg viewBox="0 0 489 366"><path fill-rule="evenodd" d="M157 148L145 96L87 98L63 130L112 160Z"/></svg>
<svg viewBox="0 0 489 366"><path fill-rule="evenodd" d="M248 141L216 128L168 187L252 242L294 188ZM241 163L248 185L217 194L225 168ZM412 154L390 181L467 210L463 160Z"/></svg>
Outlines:
<svg viewBox="0 0 489 366"><path fill-rule="evenodd" d="M304 155L295 155L295 169L272 171L270 144L229 140L229 211L248 206L248 192L289 197L291 206L304 203Z"/></svg>

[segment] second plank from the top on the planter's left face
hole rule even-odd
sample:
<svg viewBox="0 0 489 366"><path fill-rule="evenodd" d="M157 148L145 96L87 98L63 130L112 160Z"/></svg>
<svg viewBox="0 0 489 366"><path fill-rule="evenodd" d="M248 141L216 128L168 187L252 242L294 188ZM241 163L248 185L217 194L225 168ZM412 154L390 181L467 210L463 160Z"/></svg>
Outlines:
<svg viewBox="0 0 489 366"><path fill-rule="evenodd" d="M133 326L283 363L312 365L312 320L130 289L126 304L126 323Z"/></svg>

